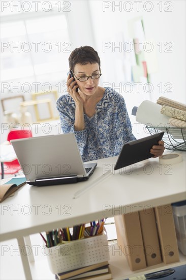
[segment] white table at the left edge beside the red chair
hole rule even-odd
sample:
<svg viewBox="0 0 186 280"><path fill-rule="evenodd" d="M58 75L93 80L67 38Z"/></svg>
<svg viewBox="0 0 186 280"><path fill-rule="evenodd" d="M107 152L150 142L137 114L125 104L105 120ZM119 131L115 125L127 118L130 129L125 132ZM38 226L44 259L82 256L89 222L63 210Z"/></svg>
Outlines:
<svg viewBox="0 0 186 280"><path fill-rule="evenodd" d="M12 145L0 145L1 149L1 166L2 166L2 179L4 179L4 162L11 162L17 159L16 153Z"/></svg>

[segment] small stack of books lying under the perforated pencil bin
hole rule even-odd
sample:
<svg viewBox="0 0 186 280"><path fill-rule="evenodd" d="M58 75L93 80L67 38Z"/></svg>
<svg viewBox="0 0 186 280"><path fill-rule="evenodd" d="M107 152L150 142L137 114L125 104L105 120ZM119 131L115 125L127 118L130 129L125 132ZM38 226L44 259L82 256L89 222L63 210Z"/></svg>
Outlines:
<svg viewBox="0 0 186 280"><path fill-rule="evenodd" d="M112 279L112 274L109 268L109 263L106 261L99 264L94 264L79 269L58 273L55 274L55 278L59 280L62 279L107 280L107 279Z"/></svg>

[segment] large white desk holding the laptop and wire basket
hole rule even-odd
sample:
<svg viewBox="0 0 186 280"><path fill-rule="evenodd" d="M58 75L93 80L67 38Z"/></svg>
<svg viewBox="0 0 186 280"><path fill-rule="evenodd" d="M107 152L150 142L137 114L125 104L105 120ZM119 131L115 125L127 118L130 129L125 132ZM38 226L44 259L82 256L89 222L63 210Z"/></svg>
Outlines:
<svg viewBox="0 0 186 280"><path fill-rule="evenodd" d="M108 179L77 199L73 199L74 193L107 170L113 170L117 157L97 160L98 167L86 182L46 187L26 185L0 205L1 241L17 238L22 247L23 237L30 234L129 213L146 205L154 207L184 200L184 152L182 156L183 162L174 165L160 165L158 158L151 158L122 172L113 171ZM26 279L32 279L27 257L21 257Z"/></svg>

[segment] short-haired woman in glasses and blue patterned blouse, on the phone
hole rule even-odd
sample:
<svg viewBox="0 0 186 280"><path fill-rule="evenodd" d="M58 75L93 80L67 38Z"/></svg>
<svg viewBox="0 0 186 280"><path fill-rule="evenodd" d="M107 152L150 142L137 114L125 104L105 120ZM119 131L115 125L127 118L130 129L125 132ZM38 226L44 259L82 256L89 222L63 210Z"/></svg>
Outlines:
<svg viewBox="0 0 186 280"><path fill-rule="evenodd" d="M113 89L99 86L100 58L94 48L72 51L69 67L74 75L67 79L69 94L57 100L63 132L75 133L84 162L118 155L123 144L136 139L125 100ZM150 152L157 157L164 149L160 141Z"/></svg>

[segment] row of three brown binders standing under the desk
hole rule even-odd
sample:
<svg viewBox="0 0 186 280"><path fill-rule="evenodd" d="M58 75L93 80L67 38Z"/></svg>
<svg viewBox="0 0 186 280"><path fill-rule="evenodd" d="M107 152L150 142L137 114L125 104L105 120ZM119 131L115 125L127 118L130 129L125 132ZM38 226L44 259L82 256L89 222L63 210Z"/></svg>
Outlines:
<svg viewBox="0 0 186 280"><path fill-rule="evenodd" d="M171 205L149 207L114 217L117 244L130 269L179 261Z"/></svg>

